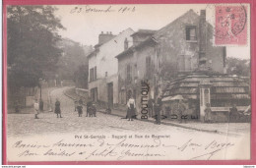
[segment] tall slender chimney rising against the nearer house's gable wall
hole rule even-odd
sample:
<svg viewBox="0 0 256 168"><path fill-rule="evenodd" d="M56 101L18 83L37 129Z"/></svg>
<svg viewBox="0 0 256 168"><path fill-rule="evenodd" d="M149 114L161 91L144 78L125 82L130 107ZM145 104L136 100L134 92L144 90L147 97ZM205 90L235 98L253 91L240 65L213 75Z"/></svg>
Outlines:
<svg viewBox="0 0 256 168"><path fill-rule="evenodd" d="M200 20L199 20L199 69L201 71L207 70L206 33L207 33L206 10L201 10Z"/></svg>

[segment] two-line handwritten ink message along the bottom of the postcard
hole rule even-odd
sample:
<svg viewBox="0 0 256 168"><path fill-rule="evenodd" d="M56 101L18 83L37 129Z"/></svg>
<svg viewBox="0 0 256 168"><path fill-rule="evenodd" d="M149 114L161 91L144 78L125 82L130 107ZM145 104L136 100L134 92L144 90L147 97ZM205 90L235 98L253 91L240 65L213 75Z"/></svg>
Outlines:
<svg viewBox="0 0 256 168"><path fill-rule="evenodd" d="M15 140L9 150L18 160L210 160L234 145L221 140L174 140L171 135L74 135L45 142Z"/></svg>

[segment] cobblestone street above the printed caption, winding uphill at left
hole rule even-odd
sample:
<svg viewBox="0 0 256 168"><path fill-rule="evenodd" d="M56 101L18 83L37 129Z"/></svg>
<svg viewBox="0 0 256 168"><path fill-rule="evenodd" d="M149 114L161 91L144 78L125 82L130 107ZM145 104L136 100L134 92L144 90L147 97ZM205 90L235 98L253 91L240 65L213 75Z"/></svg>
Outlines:
<svg viewBox="0 0 256 168"><path fill-rule="evenodd" d="M97 113L96 117L86 117L84 107L83 117L78 117L74 111L74 101L63 94L64 88L58 88L51 92L52 101L58 97L61 102L63 118L57 118L54 112L43 112L39 119L35 120L32 114L8 114L8 135L30 136L34 134L48 133L108 133L115 132L143 132L160 133L168 130L170 133L193 133L194 131L170 126L155 125L153 123L134 120L129 122L120 117Z"/></svg>

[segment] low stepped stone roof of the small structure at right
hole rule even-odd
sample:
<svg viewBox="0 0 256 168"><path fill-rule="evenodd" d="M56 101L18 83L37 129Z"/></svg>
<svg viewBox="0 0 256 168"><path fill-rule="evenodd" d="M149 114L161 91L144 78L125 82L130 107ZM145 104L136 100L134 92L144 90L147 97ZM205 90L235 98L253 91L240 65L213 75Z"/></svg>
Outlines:
<svg viewBox="0 0 256 168"><path fill-rule="evenodd" d="M169 81L163 90L163 97L173 97L175 95L194 96L198 98L199 87L203 81L211 83L212 99L248 99L250 97L249 84L247 79L232 77L228 75L204 75L190 74L186 77Z"/></svg>

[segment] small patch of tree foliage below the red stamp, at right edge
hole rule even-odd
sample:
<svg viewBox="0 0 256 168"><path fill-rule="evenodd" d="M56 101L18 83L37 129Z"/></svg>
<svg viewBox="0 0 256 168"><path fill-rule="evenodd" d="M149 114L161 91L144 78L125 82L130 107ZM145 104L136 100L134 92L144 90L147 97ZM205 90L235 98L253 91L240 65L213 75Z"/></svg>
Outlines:
<svg viewBox="0 0 256 168"><path fill-rule="evenodd" d="M228 57L226 73L243 77L250 76L250 60Z"/></svg>

